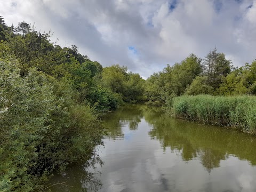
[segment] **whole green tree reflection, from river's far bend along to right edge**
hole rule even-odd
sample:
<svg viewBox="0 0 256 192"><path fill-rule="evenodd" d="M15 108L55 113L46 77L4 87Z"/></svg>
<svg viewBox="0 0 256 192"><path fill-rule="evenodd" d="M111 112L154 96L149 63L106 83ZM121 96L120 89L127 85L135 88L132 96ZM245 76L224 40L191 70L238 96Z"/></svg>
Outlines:
<svg viewBox="0 0 256 192"><path fill-rule="evenodd" d="M207 126L182 121L164 114L161 108L145 105L127 105L105 116L104 123L109 139L122 139L122 126L129 124L130 130L137 130L141 119L152 126L148 133L152 139L161 142L162 148L178 150L183 161L200 159L207 171L220 166L220 161L229 155L247 159L256 165L254 149L256 138L223 127Z"/></svg>

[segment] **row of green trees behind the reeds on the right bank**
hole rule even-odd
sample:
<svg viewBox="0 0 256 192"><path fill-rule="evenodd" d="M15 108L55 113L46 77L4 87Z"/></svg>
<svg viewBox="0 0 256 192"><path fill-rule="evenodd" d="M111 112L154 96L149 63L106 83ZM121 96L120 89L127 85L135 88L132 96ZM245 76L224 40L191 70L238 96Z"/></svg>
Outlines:
<svg viewBox="0 0 256 192"><path fill-rule="evenodd" d="M211 50L204 59L191 54L146 81L148 103L162 106L180 95L256 94L256 61L235 68L224 53Z"/></svg>

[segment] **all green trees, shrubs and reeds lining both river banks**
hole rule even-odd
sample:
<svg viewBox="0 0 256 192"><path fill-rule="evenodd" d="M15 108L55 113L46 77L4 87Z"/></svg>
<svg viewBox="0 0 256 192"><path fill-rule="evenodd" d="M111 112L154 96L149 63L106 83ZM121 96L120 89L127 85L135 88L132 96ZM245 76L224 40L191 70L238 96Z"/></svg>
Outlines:
<svg viewBox="0 0 256 192"><path fill-rule="evenodd" d="M0 16L0 191L47 191L53 172L102 164L95 150L103 145L100 116L125 102L255 134L256 61L235 68L214 48L145 80L50 37L24 21L7 26ZM91 186L99 183L88 175Z"/></svg>

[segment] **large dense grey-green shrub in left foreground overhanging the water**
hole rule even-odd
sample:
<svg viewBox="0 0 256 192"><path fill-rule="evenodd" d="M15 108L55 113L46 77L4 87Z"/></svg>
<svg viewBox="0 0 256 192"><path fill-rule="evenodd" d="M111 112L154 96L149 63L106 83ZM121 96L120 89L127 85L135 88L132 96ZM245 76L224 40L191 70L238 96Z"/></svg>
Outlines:
<svg viewBox="0 0 256 192"><path fill-rule="evenodd" d="M90 107L36 69L21 77L15 62L0 61L0 71L0 191L43 190L53 170L99 160L101 126Z"/></svg>

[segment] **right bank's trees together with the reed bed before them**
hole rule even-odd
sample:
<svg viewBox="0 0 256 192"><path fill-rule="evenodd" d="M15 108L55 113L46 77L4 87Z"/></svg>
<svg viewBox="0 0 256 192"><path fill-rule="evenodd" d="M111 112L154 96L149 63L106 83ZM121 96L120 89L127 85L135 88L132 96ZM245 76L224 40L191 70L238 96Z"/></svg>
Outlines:
<svg viewBox="0 0 256 192"><path fill-rule="evenodd" d="M146 81L148 103L174 116L256 133L256 61L235 68L224 53L191 54Z"/></svg>

